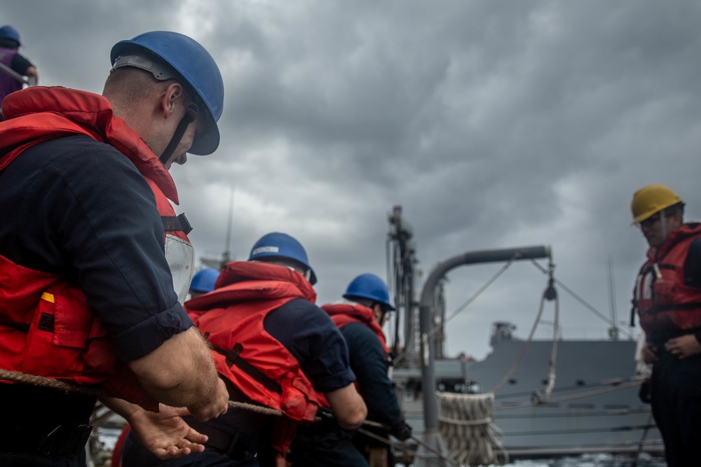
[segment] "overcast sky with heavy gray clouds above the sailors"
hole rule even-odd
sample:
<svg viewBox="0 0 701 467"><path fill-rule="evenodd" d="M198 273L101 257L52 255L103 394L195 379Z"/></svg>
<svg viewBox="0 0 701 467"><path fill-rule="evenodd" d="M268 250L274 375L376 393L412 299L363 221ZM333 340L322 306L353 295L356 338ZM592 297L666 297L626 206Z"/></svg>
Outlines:
<svg viewBox="0 0 701 467"><path fill-rule="evenodd" d="M117 41L167 29L202 43L224 77L222 143L172 169L176 210L198 258L218 257L233 190L233 257L290 233L320 303L362 272L386 277L401 204L424 277L458 253L549 244L557 279L606 316L611 258L627 321L646 249L632 193L665 183L701 218L695 0L3 0L0 18L41 85L92 92ZM449 273L447 312L502 266ZM484 357L493 321L526 337L546 281L512 265L450 322L448 353ZM606 337L560 297L564 337Z"/></svg>

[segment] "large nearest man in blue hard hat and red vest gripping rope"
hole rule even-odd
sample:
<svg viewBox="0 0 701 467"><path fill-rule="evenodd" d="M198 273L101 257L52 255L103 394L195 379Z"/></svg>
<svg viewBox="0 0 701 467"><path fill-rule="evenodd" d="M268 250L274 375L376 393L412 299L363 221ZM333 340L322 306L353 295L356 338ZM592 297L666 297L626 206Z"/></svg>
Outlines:
<svg viewBox="0 0 701 467"><path fill-rule="evenodd" d="M204 449L180 414L205 421L229 407L182 306L191 227L168 172L219 145L224 87L207 50L175 32L121 41L110 59L102 95L32 87L3 101L0 362L109 394L102 402L171 459ZM0 465L85 466L95 396L12 381L0 384L13 401Z"/></svg>

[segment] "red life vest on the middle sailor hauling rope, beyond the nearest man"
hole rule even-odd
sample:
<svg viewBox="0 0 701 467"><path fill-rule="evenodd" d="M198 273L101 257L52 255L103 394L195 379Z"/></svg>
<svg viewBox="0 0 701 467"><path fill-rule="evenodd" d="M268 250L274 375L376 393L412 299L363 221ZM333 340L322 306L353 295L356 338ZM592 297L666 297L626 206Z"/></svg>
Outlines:
<svg viewBox="0 0 701 467"><path fill-rule="evenodd" d="M313 386L283 344L263 327L265 316L295 298L316 300L311 284L285 266L234 261L214 291L185 303L207 342L219 374L247 397L295 421L314 420Z"/></svg>

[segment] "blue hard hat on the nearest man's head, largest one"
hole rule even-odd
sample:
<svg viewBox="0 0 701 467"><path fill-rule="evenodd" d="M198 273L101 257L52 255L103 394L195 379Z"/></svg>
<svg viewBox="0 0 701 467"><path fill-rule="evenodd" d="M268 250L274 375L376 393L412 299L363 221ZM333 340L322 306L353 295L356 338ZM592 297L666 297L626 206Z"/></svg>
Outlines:
<svg viewBox="0 0 701 467"><path fill-rule="evenodd" d="M204 128L196 135L188 152L196 155L215 152L219 146L217 121L224 108L224 81L212 55L188 36L177 32L152 31L114 44L109 54L111 64L114 65L120 55L138 50L147 50L170 64L182 76L183 84L199 98L198 103L205 106Z"/></svg>

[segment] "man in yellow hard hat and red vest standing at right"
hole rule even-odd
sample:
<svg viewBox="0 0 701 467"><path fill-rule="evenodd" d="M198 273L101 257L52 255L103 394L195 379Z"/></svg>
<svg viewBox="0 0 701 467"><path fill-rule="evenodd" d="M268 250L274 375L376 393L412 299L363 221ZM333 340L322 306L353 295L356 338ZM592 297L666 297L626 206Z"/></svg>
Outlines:
<svg viewBox="0 0 701 467"><path fill-rule="evenodd" d="M653 363L650 399L669 467L701 462L701 224L684 223L684 203L667 186L633 195L633 224L650 246L633 310Z"/></svg>

